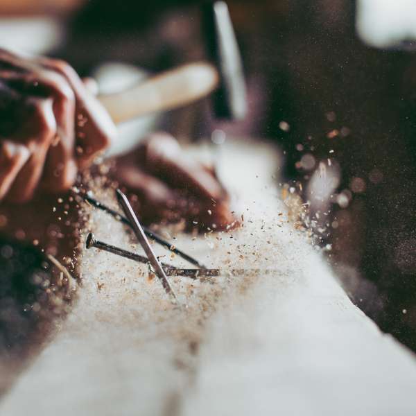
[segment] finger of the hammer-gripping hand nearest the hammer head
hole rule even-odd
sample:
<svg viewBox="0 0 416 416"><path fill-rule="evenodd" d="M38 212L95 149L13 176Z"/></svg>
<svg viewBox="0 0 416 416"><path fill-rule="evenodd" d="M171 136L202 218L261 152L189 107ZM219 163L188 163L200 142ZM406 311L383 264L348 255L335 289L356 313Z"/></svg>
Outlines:
<svg viewBox="0 0 416 416"><path fill-rule="evenodd" d="M38 62L64 76L75 93L76 137L77 144L83 149L78 155L78 164L83 168L109 146L116 136L116 127L105 108L67 62L48 58L39 58Z"/></svg>

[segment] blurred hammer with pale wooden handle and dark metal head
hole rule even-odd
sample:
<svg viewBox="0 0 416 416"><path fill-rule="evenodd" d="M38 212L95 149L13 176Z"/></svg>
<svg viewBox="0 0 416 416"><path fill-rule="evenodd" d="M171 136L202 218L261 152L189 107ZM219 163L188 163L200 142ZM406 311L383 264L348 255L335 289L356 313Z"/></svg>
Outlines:
<svg viewBox="0 0 416 416"><path fill-rule="evenodd" d="M243 118L245 80L227 4L224 1L209 3L204 6L202 17L211 63L185 64L126 91L98 96L115 123L173 110L214 91L217 116Z"/></svg>

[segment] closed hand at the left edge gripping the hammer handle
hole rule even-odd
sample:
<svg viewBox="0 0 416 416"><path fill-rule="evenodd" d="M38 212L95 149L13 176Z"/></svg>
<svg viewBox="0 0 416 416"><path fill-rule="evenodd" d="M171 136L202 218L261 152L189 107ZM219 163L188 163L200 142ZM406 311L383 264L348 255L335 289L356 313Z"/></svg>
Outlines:
<svg viewBox="0 0 416 416"><path fill-rule="evenodd" d="M0 49L0 200L65 191L116 128L66 62Z"/></svg>

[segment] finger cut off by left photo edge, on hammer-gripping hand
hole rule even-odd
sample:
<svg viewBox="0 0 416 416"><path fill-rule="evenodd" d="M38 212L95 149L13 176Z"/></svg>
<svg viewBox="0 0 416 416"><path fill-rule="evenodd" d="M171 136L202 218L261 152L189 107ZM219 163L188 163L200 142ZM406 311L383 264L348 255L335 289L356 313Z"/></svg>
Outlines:
<svg viewBox="0 0 416 416"><path fill-rule="evenodd" d="M8 193L30 155L31 153L24 145L7 140L0 144L0 200Z"/></svg>

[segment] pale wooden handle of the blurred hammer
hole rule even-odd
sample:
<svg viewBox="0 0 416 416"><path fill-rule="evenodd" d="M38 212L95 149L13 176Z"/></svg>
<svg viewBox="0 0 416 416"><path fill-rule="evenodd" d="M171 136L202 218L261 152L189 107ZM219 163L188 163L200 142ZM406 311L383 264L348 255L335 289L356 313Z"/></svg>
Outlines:
<svg viewBox="0 0 416 416"><path fill-rule="evenodd" d="M218 85L218 71L196 62L161 73L124 92L98 96L115 123L172 110L207 96Z"/></svg>

